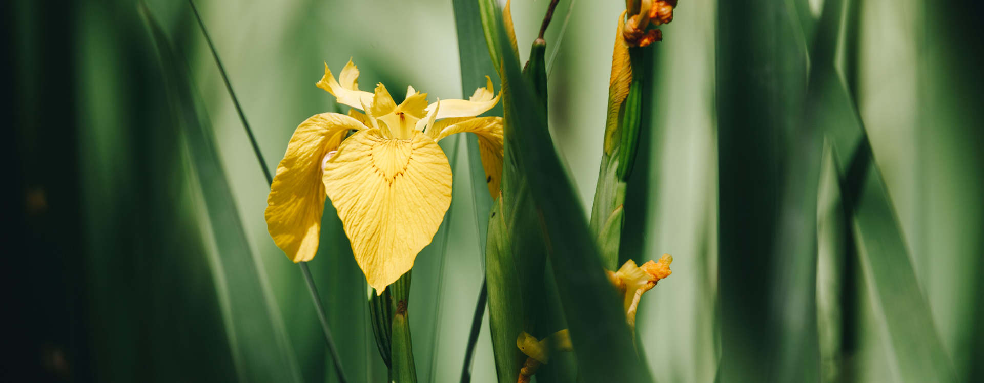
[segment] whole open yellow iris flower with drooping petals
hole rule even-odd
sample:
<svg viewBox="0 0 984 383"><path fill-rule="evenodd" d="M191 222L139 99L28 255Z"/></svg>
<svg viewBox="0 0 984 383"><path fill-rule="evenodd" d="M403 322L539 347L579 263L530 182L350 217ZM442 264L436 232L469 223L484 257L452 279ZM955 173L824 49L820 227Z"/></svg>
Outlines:
<svg viewBox="0 0 984 383"><path fill-rule="evenodd" d="M327 195L355 260L380 295L413 266L451 205L451 166L438 141L477 135L489 192L498 194L502 118L474 116L495 106L501 92L493 97L488 80L468 100L428 105L427 94L409 86L397 105L382 83L373 93L359 90L358 76L351 60L338 81L325 65L318 87L354 109L347 116L312 116L294 131L267 198L267 229L291 260L310 260Z"/></svg>

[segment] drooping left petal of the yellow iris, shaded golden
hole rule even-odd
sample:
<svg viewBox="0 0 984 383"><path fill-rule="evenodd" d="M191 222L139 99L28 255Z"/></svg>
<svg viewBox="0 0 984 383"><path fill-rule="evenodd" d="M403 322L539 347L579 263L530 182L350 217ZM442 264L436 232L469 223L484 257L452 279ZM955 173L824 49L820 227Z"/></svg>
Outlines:
<svg viewBox="0 0 984 383"><path fill-rule="evenodd" d="M325 209L322 164L349 130L366 127L338 113L305 120L287 143L277 177L267 197L267 230L274 243L294 262L311 260L318 251L321 215Z"/></svg>

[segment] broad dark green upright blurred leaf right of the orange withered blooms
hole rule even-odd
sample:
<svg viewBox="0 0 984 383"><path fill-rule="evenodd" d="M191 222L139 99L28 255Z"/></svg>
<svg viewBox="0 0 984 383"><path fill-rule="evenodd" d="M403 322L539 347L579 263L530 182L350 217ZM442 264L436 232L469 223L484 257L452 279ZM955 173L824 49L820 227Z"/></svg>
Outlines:
<svg viewBox="0 0 984 383"><path fill-rule="evenodd" d="M796 356L786 359L779 351L785 350L780 334L808 336L810 328L808 323L790 323L798 313L785 304L800 300L797 307L815 308L809 291L815 274L808 268L815 259L809 244L815 244L816 236L810 229L815 225L810 217L816 214L816 201L810 203L816 188L810 185L817 177L796 173L809 172L820 160L819 154L796 151L816 143L802 124L808 55L796 4L804 3L717 1L722 382L778 382L786 373L797 375L796 381L807 377L800 372L802 365L783 364ZM794 164L794 156L802 157ZM790 174L795 177L787 180ZM809 209L805 213L803 206ZM800 213L806 215L796 216ZM806 226L784 227L787 222ZM787 234L783 231L795 234L791 242L781 242ZM786 250L798 252L780 254ZM806 279L796 279L800 277ZM782 290L782 285L797 290ZM810 343L797 346L809 353L816 349ZM786 371L777 372L781 369Z"/></svg>

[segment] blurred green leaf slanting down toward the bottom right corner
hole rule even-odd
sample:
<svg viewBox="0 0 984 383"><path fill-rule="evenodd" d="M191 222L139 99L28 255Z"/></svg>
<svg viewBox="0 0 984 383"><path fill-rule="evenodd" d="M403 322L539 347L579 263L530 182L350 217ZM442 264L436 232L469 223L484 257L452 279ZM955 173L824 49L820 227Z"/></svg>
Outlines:
<svg viewBox="0 0 984 383"><path fill-rule="evenodd" d="M827 105L824 127L833 144L841 196L853 213L862 269L887 328L896 376L903 382L955 382L885 181L844 82L831 91Z"/></svg>

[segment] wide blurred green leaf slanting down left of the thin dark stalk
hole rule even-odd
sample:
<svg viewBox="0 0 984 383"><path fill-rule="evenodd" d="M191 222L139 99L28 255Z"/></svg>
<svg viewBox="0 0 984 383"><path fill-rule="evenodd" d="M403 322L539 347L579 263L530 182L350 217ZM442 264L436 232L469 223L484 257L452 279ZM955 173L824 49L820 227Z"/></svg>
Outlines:
<svg viewBox="0 0 984 383"><path fill-rule="evenodd" d="M141 3L139 8L154 37L174 121L184 133L206 214L212 222L213 273L239 379L300 381L300 371L291 355L263 270L258 267L243 231L215 151L211 125L201 112L187 64L173 49L147 6Z"/></svg>

